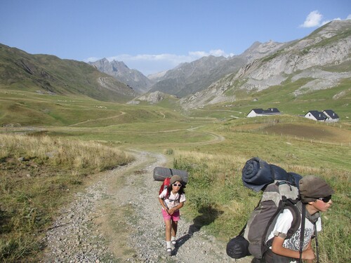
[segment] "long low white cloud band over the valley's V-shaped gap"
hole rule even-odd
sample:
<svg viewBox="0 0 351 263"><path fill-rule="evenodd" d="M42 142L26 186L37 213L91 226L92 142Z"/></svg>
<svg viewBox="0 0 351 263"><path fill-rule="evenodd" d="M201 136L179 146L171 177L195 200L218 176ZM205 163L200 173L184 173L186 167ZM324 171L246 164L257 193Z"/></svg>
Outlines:
<svg viewBox="0 0 351 263"><path fill-rule="evenodd" d="M107 60L110 62L112 60L123 61L130 69L137 69L142 72L145 76L149 74L154 74L157 72L164 72L168 69L173 69L181 63L192 62L198 60L199 58L206 57L208 55L224 56L230 57L234 55L233 53L227 54L224 50L216 49L206 51L190 51L187 55L175 55L175 54L159 54L159 55L128 55L121 54L108 57ZM100 60L101 58L87 58L85 62L93 62Z"/></svg>

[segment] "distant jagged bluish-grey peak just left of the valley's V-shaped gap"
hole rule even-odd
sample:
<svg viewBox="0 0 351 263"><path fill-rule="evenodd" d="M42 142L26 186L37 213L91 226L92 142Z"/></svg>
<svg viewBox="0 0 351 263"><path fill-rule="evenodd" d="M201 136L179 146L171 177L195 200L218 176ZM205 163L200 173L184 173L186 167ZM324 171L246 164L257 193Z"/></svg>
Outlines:
<svg viewBox="0 0 351 263"><path fill-rule="evenodd" d="M95 62L88 62L90 65L96 67L100 72L114 76L117 80L131 86L136 93L146 93L154 81L148 79L143 73L136 69L129 69L124 62L113 60L109 62L106 58L97 60Z"/></svg>

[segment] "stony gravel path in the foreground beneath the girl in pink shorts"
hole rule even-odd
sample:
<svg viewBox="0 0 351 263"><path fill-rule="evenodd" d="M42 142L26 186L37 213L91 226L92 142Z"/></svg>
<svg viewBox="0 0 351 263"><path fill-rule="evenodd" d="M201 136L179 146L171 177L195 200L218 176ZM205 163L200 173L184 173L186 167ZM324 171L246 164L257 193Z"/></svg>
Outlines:
<svg viewBox="0 0 351 263"><path fill-rule="evenodd" d="M179 222L173 256L166 256L157 200L161 182L152 177L166 158L147 152L135 156L135 162L108 171L62 209L47 233L42 262L235 262L225 244L186 220Z"/></svg>

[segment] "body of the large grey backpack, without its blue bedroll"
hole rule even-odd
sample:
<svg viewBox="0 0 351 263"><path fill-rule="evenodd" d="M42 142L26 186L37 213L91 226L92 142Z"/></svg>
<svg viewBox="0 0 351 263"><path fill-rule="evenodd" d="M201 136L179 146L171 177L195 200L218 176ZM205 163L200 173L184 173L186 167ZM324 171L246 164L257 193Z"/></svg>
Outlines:
<svg viewBox="0 0 351 263"><path fill-rule="evenodd" d="M290 238L300 227L301 217L296 203L298 202L298 187L284 180L275 180L268 184L262 198L251 213L244 230L244 238L249 241L249 252L260 259L272 245L272 239L267 241L277 218L284 209L291 210L293 222L286 238Z"/></svg>

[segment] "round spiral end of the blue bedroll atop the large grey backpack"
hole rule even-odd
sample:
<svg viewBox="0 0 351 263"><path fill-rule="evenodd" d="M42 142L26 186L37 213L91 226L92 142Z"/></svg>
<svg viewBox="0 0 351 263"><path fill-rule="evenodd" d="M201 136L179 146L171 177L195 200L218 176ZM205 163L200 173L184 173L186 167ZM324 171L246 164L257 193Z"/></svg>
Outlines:
<svg viewBox="0 0 351 263"><path fill-rule="evenodd" d="M246 161L241 174L244 186L253 189L253 191L260 191L267 184L274 182L270 164L258 157Z"/></svg>

